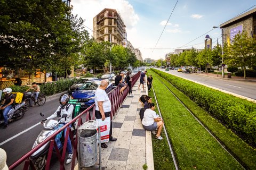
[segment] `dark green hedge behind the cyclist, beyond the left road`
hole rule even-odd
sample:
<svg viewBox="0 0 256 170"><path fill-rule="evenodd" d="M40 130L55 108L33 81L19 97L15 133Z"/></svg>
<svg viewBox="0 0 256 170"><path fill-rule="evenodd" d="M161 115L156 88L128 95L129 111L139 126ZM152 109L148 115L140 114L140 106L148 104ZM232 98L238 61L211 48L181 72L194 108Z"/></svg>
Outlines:
<svg viewBox="0 0 256 170"><path fill-rule="evenodd" d="M45 96L51 96L59 92L68 90L72 84L76 83L78 79L58 80L54 82L43 83L40 86L40 91ZM11 86L13 92L25 92L29 86Z"/></svg>

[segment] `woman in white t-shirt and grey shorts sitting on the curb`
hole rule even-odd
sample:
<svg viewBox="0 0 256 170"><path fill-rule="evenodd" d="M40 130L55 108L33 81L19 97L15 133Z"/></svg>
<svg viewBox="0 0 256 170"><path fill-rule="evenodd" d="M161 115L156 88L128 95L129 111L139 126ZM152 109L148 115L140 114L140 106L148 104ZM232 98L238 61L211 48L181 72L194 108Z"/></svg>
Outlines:
<svg viewBox="0 0 256 170"><path fill-rule="evenodd" d="M155 112L155 104L150 103L149 108L144 112L144 117L142 119L142 126L145 130L151 131L155 134L155 130L157 130L156 138L162 140L161 131L163 129L163 120L161 117Z"/></svg>

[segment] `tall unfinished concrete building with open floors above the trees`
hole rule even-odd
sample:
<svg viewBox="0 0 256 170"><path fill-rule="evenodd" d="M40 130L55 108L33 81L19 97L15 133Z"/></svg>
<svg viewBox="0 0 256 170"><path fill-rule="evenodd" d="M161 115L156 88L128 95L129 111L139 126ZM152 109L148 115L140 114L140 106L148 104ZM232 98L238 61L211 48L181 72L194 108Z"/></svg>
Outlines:
<svg viewBox="0 0 256 170"><path fill-rule="evenodd" d="M105 8L94 16L93 38L97 43L111 41L111 43L126 47L126 37L125 24L116 10Z"/></svg>

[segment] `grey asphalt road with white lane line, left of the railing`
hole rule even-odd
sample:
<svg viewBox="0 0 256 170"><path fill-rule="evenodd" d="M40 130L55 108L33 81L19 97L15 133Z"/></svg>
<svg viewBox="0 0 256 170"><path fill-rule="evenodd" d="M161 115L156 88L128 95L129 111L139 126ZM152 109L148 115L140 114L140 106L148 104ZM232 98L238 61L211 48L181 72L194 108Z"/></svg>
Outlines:
<svg viewBox="0 0 256 170"><path fill-rule="evenodd" d="M0 125L0 148L3 148L6 151L8 166L31 150L39 132L43 129L41 124L36 125L43 120L39 113L42 112L45 117L48 117L56 111L59 105L59 96L52 98L51 101L47 101L46 99L45 105L30 107L21 120L9 123L7 129L3 129L3 124ZM27 132L6 142L6 140L9 140L14 135L17 135L34 125L36 125L34 128L31 128ZM1 145L3 142L6 143ZM55 167L57 165L53 164L52 166ZM21 167L18 167L17 169L21 169Z"/></svg>

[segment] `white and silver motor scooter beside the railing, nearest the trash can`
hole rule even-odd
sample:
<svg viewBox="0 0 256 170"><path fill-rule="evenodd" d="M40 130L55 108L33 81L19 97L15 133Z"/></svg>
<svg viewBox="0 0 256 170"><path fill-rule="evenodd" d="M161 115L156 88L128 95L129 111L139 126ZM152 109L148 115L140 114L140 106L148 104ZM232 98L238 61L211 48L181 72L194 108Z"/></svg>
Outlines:
<svg viewBox="0 0 256 170"><path fill-rule="evenodd" d="M42 143L47 138L49 138L53 133L58 131L60 128L62 128L63 124L61 123L60 120L61 120L61 118L67 117L67 114L63 114L61 117L58 118L58 121L56 121L56 120L46 120L46 118L44 117L44 115L42 113L40 113L40 115L45 120L43 123L44 129L39 133L32 149L35 148L36 146L38 146L40 143ZM75 135L75 129L73 127L71 128L71 131L74 131L73 134ZM61 146L59 148L59 150L62 150L65 138L64 138L63 131L60 133L61 133L61 138L59 139L59 141L61 143L57 142L57 138L55 138L55 141L57 142L58 148L59 148L59 146ZM44 169L44 167L46 165L47 152L49 151L49 147L50 147L50 141L47 142L44 146L39 148L36 152L34 152L34 154L32 154L30 156L30 159L32 160L32 162L37 170ZM55 150L53 150L53 151L55 152Z"/></svg>

